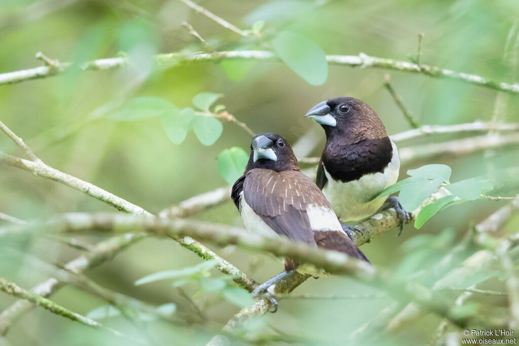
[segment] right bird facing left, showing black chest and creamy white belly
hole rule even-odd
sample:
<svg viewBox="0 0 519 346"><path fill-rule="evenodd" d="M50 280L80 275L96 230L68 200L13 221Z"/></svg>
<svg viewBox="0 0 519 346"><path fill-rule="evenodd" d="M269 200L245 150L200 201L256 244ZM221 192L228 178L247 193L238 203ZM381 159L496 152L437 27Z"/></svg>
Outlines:
<svg viewBox="0 0 519 346"><path fill-rule="evenodd" d="M371 217L386 202L384 210L393 207L401 220L400 236L410 217L398 197L374 199L397 182L400 171L398 148L375 111L358 99L340 97L320 102L305 117L320 124L326 134L316 184L340 222ZM359 230L345 224L350 237Z"/></svg>

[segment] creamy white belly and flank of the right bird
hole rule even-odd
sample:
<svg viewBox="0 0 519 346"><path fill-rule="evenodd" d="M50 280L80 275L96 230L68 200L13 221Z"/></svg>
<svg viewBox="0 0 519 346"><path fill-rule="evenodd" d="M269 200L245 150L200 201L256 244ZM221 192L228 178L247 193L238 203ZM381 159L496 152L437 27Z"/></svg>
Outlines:
<svg viewBox="0 0 519 346"><path fill-rule="evenodd" d="M375 214L386 198L370 200L386 187L398 180L400 157L397 146L391 141L393 157L382 173L363 175L360 179L343 183L335 181L324 167L328 179L322 192L332 204L333 210L342 222L360 221Z"/></svg>

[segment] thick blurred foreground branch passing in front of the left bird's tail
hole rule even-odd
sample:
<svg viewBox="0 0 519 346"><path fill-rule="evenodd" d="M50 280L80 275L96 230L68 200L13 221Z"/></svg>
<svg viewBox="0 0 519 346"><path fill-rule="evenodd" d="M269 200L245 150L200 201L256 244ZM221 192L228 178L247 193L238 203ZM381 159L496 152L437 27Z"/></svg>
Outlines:
<svg viewBox="0 0 519 346"><path fill-rule="evenodd" d="M12 226L19 231L28 231L34 225ZM344 253L323 250L302 242L292 242L285 238L272 239L244 232L241 228L218 225L197 220L151 218L117 213L69 213L60 218L49 220L42 225L52 232L82 232L98 230L104 232L130 232L138 229L155 236L194 237L214 242L218 245L238 245L254 251L265 251L278 257L293 258L297 262L315 265L327 273L346 274L353 278L386 289L388 294L398 300L414 300L427 310L448 318L452 323L465 326L477 316L459 316L450 312L448 304L435 297L426 287L414 282L395 281L394 275L377 269L363 260L352 258ZM307 275L300 275L304 280ZM288 287L288 285L287 285ZM262 300L263 301L263 300ZM469 318L470 317L470 318Z"/></svg>

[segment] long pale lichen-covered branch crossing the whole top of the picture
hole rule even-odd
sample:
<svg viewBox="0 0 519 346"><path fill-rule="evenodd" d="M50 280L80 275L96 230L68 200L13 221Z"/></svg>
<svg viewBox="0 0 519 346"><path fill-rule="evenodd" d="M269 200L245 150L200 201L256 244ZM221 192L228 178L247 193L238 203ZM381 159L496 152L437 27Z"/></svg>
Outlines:
<svg viewBox="0 0 519 346"><path fill-rule="evenodd" d="M167 67L185 62L200 62L200 61L221 61L221 60L262 60L262 61L280 61L274 53L265 50L240 50L240 51L223 51L214 53L166 53L158 54L155 60L159 66ZM364 53L358 56L326 56L328 63L333 65L345 65L351 67L373 67L384 70L393 70L401 72L409 72L416 74L424 74L426 76L435 78L453 79L467 84L485 87L493 90L500 90L509 93L519 93L518 84L509 84L505 82L495 81L484 78L482 76L468 74L463 72L456 72L453 70L446 70L444 68L414 64L407 61L400 61L394 59L385 59L370 57ZM127 64L127 59L107 58L98 59L83 64L75 65L70 62L60 63L57 68L50 68L49 66L39 66L29 68L28 70L21 70L15 72L7 72L0 74L0 85L12 84L20 81L45 78L47 76L62 74L71 71L73 68L79 71L105 71L119 68Z"/></svg>

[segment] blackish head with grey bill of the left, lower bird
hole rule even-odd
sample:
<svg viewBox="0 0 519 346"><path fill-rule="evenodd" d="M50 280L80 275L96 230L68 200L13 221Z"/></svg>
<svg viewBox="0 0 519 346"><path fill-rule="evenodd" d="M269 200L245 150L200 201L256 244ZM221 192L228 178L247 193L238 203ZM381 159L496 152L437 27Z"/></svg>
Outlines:
<svg viewBox="0 0 519 346"><path fill-rule="evenodd" d="M282 172L298 170L299 163L283 137L275 133L260 133L252 138L251 155L245 172L255 168Z"/></svg>

